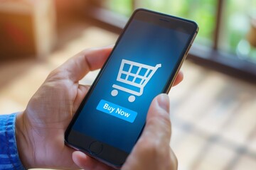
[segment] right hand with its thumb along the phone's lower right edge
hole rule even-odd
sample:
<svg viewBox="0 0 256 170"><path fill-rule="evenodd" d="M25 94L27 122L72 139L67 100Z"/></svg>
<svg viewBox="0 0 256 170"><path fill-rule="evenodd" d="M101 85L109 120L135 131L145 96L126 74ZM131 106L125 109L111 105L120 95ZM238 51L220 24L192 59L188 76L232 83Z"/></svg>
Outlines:
<svg viewBox="0 0 256 170"><path fill-rule="evenodd" d="M181 79L182 77L178 76L176 84ZM177 169L178 162L169 146L170 139L169 97L161 94L152 101L142 136L127 157L122 170ZM87 156L84 153L77 151L73 154L73 158L80 168L88 168Z"/></svg>

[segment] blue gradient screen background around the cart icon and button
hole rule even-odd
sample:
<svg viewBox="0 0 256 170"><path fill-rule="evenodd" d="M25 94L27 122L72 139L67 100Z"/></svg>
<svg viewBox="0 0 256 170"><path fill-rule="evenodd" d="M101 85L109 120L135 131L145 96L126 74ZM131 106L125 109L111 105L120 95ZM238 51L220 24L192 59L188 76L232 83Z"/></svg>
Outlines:
<svg viewBox="0 0 256 170"><path fill-rule="evenodd" d="M95 89L87 98L73 130L95 138L100 142L131 152L144 128L146 113L153 98L164 91L176 62L181 57L190 35L134 19L112 52ZM155 66L161 64L144 87L142 96L129 102L130 94L119 91L112 96L112 85L117 84L117 74L122 59ZM137 112L133 123L98 111L100 100L109 101ZM152 139L153 140L153 139Z"/></svg>

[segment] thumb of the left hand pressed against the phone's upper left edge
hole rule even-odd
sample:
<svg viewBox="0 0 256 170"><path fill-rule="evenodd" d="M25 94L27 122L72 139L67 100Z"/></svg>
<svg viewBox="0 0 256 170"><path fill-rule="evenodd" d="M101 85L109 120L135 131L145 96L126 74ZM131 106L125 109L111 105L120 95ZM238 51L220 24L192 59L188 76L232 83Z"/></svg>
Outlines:
<svg viewBox="0 0 256 170"><path fill-rule="evenodd" d="M67 72L70 80L77 82L88 72L100 69L111 51L112 47L83 50L62 64L59 69Z"/></svg>

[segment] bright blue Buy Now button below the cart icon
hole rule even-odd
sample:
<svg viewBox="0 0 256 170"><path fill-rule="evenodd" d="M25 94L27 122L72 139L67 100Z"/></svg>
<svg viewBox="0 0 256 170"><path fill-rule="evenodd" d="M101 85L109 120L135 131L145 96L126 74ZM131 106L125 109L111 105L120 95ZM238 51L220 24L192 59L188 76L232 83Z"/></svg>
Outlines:
<svg viewBox="0 0 256 170"><path fill-rule="evenodd" d="M97 110L113 115L114 117L120 118L122 120L127 120L127 122L130 123L133 123L137 116L137 112L105 100L100 101L97 106Z"/></svg>

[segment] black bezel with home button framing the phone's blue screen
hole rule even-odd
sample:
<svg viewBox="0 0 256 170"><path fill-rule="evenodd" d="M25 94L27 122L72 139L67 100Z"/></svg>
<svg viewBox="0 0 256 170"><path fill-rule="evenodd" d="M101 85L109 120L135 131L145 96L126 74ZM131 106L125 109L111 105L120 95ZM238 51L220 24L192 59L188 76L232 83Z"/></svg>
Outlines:
<svg viewBox="0 0 256 170"><path fill-rule="evenodd" d="M114 51L115 47L117 46L119 40L122 39L122 35L124 34L125 30L129 26L129 23L133 19L139 19L142 21L152 22L154 24L160 24L161 26L166 26L171 29L176 29L185 33L190 34L190 38L188 39L188 43L183 48L183 51L181 52L181 55L178 59L178 62L176 64L176 67L174 68L175 72L173 72L170 77L169 81L165 85L163 93L168 93L171 89L172 84L174 83L174 79L176 78L176 74L178 70L181 67L181 64L183 60L186 57L186 54L191 47L191 44L196 37L196 34L198 33L198 26L194 21L189 21L183 18L178 18L176 16L169 16L164 13L159 13L155 11L150 11L144 8L139 8L132 14L131 18L129 18L129 21L127 22L126 26L124 27L124 30L122 31L121 35L117 39L116 45L114 45L112 52ZM168 24L169 23L169 24ZM107 154L111 150L111 155L109 157L106 157L105 151L104 151L104 157L99 157L99 154L92 154L90 150L88 150L88 145L90 145L91 142L97 141L96 139L92 139L92 137L88 137L84 134L80 134L79 132L75 132L75 130L72 130L72 127L75 123L75 120L78 118L78 115L80 114L80 111L82 110L83 106L85 105L87 98L90 97L90 94L92 94L92 90L95 88L97 81L100 79L102 72L105 70L105 67L107 66L108 61L110 60L110 57L112 55L112 52L110 53L110 56L106 60L105 64L103 64L102 69L100 70L100 73L97 75L95 81L93 82L92 86L90 87L89 91L87 92L87 95L82 100L82 103L80 104L80 107L78 108L78 111L76 111L73 119L71 120L70 124L68 125L67 130L65 131L65 144L73 147L74 149L78 149L82 152L85 152L89 154L91 157L94 157L95 159L98 159L100 162L104 162L105 164L108 164L114 168L120 168L122 164L124 164L125 159L129 155L129 153L124 152L120 149L114 148L110 145L105 144L104 142L101 142L103 145L103 148L107 148ZM144 127L142 127L143 130ZM82 142L81 142L82 141ZM85 143L87 143L87 147L85 146ZM84 146L80 146L84 145ZM102 151L103 152L103 151Z"/></svg>

